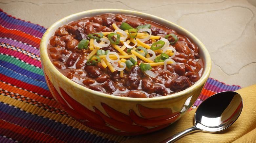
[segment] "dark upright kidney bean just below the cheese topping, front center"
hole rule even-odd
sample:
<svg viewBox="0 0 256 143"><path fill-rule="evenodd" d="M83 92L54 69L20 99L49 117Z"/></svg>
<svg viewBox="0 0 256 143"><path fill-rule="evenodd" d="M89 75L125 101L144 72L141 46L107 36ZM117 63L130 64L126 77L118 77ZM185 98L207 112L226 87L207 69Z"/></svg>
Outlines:
<svg viewBox="0 0 256 143"><path fill-rule="evenodd" d="M130 89L137 89L140 83L141 70L138 66L134 66L128 74L125 85Z"/></svg>

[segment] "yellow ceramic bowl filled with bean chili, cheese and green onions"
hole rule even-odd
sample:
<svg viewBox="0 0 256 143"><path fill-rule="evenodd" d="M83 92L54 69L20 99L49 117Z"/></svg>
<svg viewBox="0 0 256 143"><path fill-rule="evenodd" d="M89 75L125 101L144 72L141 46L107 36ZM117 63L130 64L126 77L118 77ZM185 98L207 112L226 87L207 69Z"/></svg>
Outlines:
<svg viewBox="0 0 256 143"><path fill-rule="evenodd" d="M211 71L203 43L160 17L123 9L67 16L40 43L59 106L94 130L141 135L180 119Z"/></svg>

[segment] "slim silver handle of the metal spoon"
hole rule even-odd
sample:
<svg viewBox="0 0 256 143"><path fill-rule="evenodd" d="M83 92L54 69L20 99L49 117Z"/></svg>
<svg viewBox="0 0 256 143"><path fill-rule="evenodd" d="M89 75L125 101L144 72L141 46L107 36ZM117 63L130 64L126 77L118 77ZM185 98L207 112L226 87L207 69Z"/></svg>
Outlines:
<svg viewBox="0 0 256 143"><path fill-rule="evenodd" d="M198 129L195 128L195 127L188 128L188 129L186 129L184 131L181 131L181 132L179 132L179 133L177 133L177 134L175 134L175 135L173 135L171 137L168 137L167 139L161 141L160 143L171 143L171 142L174 142L177 139L181 138L182 136L187 135L187 134L192 133L192 132L195 132L197 130Z"/></svg>

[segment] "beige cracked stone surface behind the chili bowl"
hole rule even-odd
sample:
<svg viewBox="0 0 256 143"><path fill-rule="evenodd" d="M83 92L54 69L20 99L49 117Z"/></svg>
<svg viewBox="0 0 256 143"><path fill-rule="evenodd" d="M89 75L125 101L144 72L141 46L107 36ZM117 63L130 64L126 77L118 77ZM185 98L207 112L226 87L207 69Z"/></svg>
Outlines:
<svg viewBox="0 0 256 143"><path fill-rule="evenodd" d="M45 28L89 9L153 14L182 26L204 43L212 58L211 78L241 87L256 83L255 0L0 0L0 8Z"/></svg>

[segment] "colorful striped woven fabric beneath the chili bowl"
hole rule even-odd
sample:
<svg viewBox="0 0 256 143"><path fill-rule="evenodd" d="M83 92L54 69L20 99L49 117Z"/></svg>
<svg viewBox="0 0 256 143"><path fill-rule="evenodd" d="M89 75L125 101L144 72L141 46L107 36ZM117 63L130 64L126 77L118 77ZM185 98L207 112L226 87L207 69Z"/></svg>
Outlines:
<svg viewBox="0 0 256 143"><path fill-rule="evenodd" d="M58 106L40 62L45 31L0 9L0 143L119 143L132 138L92 130ZM239 88L209 78L192 108L216 92Z"/></svg>

